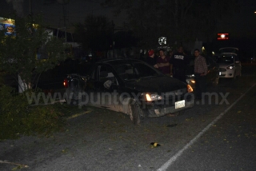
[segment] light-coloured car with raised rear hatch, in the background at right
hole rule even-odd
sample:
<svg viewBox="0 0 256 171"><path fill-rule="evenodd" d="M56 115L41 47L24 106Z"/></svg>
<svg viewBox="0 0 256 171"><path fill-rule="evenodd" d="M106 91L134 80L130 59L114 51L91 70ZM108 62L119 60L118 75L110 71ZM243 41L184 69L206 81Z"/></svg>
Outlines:
<svg viewBox="0 0 256 171"><path fill-rule="evenodd" d="M242 75L242 66L238 58L238 48L221 48L217 58L220 78L236 78Z"/></svg>

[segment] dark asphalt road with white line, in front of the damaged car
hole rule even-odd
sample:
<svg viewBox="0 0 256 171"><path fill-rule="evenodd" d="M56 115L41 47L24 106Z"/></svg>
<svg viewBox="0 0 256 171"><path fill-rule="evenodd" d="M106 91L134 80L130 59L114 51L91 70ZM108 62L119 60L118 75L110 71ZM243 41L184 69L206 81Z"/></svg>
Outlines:
<svg viewBox="0 0 256 171"><path fill-rule="evenodd" d="M241 78L209 86L214 96L183 115L140 126L86 107L63 133L0 142L0 170L255 170L255 78L256 66L243 66Z"/></svg>

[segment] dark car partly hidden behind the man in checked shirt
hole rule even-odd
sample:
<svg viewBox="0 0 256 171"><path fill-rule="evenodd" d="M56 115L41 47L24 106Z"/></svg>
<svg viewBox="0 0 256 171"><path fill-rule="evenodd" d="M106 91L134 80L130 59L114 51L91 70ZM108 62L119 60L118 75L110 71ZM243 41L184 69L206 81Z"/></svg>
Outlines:
<svg viewBox="0 0 256 171"><path fill-rule="evenodd" d="M205 57L206 63L208 66L208 73L206 74L206 84L214 84L218 85L219 79L219 66L218 63L214 61L213 58ZM189 58L188 66L186 68L186 82L191 85L191 87L195 88L195 80L194 80L194 56Z"/></svg>

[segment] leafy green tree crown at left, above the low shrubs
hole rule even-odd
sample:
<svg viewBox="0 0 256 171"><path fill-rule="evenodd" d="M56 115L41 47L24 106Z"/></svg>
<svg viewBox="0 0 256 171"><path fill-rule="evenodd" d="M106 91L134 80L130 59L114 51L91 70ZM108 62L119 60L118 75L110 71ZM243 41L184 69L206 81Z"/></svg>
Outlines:
<svg viewBox="0 0 256 171"><path fill-rule="evenodd" d="M49 35L41 15L11 18L15 32L6 36L6 30L0 31L0 68L15 77L19 74L23 82L30 85L32 75L53 69L66 60L66 45ZM42 59L38 59L37 54L41 54Z"/></svg>

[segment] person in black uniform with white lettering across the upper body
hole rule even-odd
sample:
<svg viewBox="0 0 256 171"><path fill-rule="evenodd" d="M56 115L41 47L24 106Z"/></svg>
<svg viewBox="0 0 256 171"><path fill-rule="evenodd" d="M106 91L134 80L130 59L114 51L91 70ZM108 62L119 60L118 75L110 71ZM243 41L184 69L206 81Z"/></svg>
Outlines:
<svg viewBox="0 0 256 171"><path fill-rule="evenodd" d="M170 65L173 67L174 78L177 78L182 82L186 82L186 63L187 58L183 53L183 47L179 46L178 51L174 53L173 57L170 59Z"/></svg>

